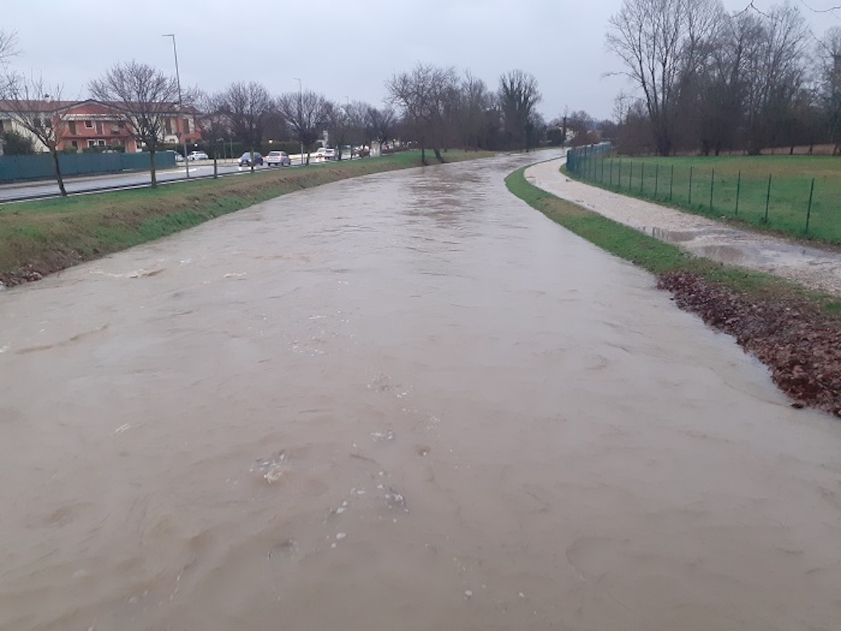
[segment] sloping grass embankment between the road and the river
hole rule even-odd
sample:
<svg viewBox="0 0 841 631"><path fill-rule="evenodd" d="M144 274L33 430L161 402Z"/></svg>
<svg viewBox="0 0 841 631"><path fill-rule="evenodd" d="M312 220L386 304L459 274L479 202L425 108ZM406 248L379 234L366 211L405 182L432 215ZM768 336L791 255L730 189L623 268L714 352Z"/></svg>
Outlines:
<svg viewBox="0 0 841 631"><path fill-rule="evenodd" d="M451 150L444 157L458 162L491 155ZM0 282L38 279L302 188L419 166L420 152L405 151L158 188L0 205Z"/></svg>

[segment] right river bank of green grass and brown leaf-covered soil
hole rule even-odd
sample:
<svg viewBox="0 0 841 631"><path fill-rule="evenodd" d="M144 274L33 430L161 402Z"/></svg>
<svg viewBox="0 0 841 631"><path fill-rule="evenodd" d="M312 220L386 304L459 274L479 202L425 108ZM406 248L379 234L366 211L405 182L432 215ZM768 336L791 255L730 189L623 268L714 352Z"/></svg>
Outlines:
<svg viewBox="0 0 841 631"><path fill-rule="evenodd" d="M511 173L511 193L588 241L648 270L678 305L733 335L770 368L796 406L841 416L841 303L770 274L692 257L664 241L558 199Z"/></svg>

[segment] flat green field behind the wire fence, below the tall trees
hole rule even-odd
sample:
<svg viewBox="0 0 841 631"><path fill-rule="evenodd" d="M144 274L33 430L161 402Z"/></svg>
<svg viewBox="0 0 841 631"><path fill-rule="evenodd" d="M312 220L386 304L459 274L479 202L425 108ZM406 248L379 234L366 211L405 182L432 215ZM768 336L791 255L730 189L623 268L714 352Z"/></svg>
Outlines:
<svg viewBox="0 0 841 631"><path fill-rule="evenodd" d="M597 156L589 164L585 162L579 175L573 177L697 215L841 244L841 159L838 157L608 157L602 160Z"/></svg>

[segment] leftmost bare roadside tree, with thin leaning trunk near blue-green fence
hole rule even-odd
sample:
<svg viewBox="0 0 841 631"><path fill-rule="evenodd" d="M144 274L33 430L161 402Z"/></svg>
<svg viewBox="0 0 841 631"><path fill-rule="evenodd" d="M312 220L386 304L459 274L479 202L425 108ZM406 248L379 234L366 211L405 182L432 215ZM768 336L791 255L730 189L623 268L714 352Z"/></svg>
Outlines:
<svg viewBox="0 0 841 631"><path fill-rule="evenodd" d="M8 75L6 114L9 119L34 136L50 152L53 172L61 195L66 195L58 146L66 132L62 118L61 86L48 86L44 77Z"/></svg>

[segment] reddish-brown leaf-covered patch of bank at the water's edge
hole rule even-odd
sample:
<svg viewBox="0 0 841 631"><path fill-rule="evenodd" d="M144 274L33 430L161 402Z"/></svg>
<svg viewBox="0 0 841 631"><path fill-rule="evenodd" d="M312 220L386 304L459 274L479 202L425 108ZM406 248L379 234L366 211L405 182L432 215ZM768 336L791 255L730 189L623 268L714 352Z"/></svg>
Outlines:
<svg viewBox="0 0 841 631"><path fill-rule="evenodd" d="M841 416L841 322L796 298L747 296L691 273L668 273L680 308L736 338L769 367L774 383L795 401Z"/></svg>

